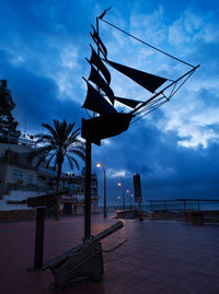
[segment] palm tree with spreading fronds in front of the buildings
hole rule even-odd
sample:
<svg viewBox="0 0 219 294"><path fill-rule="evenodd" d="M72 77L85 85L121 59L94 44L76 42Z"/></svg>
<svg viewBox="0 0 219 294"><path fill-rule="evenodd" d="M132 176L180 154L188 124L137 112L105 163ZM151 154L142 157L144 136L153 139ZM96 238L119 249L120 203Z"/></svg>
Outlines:
<svg viewBox="0 0 219 294"><path fill-rule="evenodd" d="M36 144L44 143L43 146L37 149L39 155L38 165L46 160L48 167L54 161L54 166L57 166L57 192L60 192L61 168L65 157L68 160L71 169L76 166L79 169L78 161L72 156L85 160L84 144L78 139L80 128L73 130L76 122L67 124L66 119L62 122L54 119L54 127L48 124L42 124L49 134L36 134L38 140ZM60 220L60 195L57 196L56 201L56 220Z"/></svg>

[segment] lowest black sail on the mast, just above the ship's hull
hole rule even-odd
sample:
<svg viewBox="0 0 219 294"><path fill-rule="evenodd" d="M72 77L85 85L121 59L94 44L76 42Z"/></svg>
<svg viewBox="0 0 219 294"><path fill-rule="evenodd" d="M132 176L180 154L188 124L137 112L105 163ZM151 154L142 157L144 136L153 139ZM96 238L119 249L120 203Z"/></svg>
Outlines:
<svg viewBox="0 0 219 294"><path fill-rule="evenodd" d="M85 80L85 79L84 79ZM87 81L88 94L83 108L100 115L116 114L116 109Z"/></svg>

